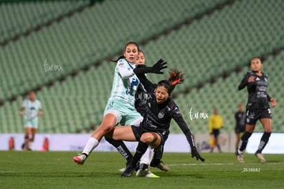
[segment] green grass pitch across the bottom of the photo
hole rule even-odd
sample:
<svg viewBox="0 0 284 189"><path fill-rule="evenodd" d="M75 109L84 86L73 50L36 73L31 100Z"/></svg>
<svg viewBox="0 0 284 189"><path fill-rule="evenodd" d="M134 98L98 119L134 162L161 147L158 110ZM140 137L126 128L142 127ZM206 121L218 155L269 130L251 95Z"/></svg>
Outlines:
<svg viewBox="0 0 284 189"><path fill-rule="evenodd" d="M167 173L150 168L160 178L121 178L125 160L119 153L93 152L83 166L72 162L74 152L0 151L0 188L283 188L284 155L265 154L266 163L244 154L165 153Z"/></svg>

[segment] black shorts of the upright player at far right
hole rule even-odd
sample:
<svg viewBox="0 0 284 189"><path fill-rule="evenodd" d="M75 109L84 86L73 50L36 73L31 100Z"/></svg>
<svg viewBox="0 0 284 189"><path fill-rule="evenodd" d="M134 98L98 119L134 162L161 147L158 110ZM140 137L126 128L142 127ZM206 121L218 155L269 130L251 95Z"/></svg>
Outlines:
<svg viewBox="0 0 284 189"><path fill-rule="evenodd" d="M261 118L272 118L270 108L246 110L246 124L255 125Z"/></svg>

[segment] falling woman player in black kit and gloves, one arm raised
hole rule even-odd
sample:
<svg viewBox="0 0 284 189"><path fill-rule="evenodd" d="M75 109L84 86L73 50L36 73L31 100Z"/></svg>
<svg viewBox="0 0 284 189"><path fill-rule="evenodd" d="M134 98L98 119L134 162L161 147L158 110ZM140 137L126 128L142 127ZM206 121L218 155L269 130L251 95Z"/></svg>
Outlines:
<svg viewBox="0 0 284 189"><path fill-rule="evenodd" d="M183 81L183 74L176 71L176 69L171 69L169 78L159 81L158 84L152 84L152 82L145 77L145 73L162 73L161 69L167 68L165 64L166 62L159 60L152 67L134 69L134 73L150 95L145 105L145 114L143 116L143 122L140 123L140 127L137 127L137 125L115 127L108 136L105 136L113 138L114 140L139 141L132 163L126 167L121 177L130 177L132 175L135 169L134 165L140 160L141 155L145 153L148 145L152 148L159 148L165 144L165 140L167 140L169 136L171 118L174 118L185 134L191 146L191 156L196 157L196 160L202 160L202 162L204 162L204 159L196 149L193 136L189 127L187 127L187 123L185 123L185 120L182 118L178 106L170 97L176 84Z"/></svg>

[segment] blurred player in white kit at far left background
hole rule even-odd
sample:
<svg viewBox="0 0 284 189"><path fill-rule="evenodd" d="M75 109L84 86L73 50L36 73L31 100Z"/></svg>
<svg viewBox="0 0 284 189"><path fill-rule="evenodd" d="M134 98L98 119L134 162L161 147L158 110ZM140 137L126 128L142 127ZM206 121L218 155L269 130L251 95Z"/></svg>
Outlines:
<svg viewBox="0 0 284 189"><path fill-rule="evenodd" d="M22 103L20 116L23 116L25 127L25 140L22 149L32 150L34 136L38 130L38 116L43 116L43 109L40 101L36 99L36 92L29 92L28 99L25 99Z"/></svg>

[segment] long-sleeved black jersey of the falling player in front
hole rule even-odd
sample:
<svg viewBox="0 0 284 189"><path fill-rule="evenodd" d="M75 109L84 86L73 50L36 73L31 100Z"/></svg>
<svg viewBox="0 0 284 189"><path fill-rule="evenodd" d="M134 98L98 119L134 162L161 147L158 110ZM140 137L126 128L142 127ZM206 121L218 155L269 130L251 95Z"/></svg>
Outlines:
<svg viewBox="0 0 284 189"><path fill-rule="evenodd" d="M176 103L169 97L164 103L156 103L155 89L156 84L152 84L145 75L137 75L143 84L148 95L147 103L145 103L143 121L140 123L141 129L145 132L160 132L161 134L169 135L169 125L171 118L178 124L182 132L185 134L187 141L192 147L195 147L193 136L187 123L185 123L182 114Z"/></svg>

